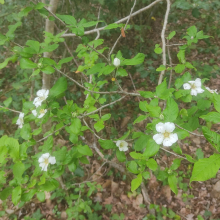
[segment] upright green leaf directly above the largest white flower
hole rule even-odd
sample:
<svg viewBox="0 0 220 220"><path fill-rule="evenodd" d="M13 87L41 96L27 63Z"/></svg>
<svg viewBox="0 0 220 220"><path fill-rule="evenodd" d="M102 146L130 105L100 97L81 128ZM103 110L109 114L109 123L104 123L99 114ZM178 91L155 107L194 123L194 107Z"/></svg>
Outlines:
<svg viewBox="0 0 220 220"><path fill-rule="evenodd" d="M178 113L179 113L179 108L177 103L172 98L168 98L167 106L163 111L164 120L173 122L176 120Z"/></svg>

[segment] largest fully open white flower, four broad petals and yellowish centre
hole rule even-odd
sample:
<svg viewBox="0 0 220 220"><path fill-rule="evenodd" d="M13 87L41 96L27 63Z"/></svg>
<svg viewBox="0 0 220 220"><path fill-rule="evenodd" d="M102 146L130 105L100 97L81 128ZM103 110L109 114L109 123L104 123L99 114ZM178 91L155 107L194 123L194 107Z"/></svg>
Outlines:
<svg viewBox="0 0 220 220"><path fill-rule="evenodd" d="M156 125L156 130L160 134L155 134L153 136L153 139L157 144L162 144L164 147L170 147L172 144L177 142L178 136L176 133L172 133L175 129L175 125L172 122L166 122L166 123L158 123Z"/></svg>

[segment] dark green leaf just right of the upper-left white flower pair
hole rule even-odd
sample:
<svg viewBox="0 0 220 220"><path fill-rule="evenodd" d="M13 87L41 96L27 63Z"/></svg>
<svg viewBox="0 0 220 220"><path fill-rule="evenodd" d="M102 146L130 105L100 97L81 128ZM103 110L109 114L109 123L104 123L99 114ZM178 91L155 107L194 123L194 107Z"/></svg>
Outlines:
<svg viewBox="0 0 220 220"><path fill-rule="evenodd" d="M64 77L60 77L55 85L50 89L49 97L55 98L67 90L67 80Z"/></svg>

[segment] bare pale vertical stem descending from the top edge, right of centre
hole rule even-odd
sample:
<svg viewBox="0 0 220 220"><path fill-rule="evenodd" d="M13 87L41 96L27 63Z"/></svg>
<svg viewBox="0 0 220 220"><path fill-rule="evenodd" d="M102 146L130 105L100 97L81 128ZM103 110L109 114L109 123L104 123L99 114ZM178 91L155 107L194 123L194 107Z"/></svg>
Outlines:
<svg viewBox="0 0 220 220"><path fill-rule="evenodd" d="M166 31L166 27L167 27L167 20L168 20L168 16L170 13L170 0L167 0L167 11L165 14L165 18L164 18L164 23L163 23L163 29L161 32L161 39L162 39L162 50L163 50L163 65L166 66L166 42L165 42L165 31ZM160 85L163 81L163 75L165 73L165 70L162 70L160 73L160 77L158 80L158 85Z"/></svg>

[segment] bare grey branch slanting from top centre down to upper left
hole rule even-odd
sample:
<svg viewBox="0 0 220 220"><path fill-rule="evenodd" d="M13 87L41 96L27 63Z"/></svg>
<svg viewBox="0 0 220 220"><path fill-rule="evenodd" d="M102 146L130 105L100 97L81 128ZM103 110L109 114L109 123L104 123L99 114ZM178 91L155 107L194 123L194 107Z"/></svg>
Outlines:
<svg viewBox="0 0 220 220"><path fill-rule="evenodd" d="M151 7L153 7L154 5L156 5L157 3L161 2L161 1L163 1L163 0L156 0L156 1L152 2L150 5L148 5L148 6L144 7L144 8L141 8L140 10L138 10L138 11L132 13L132 14L131 14L131 17L133 17L133 16L135 16L135 15L137 15L137 14L140 14L141 12L143 12L143 11L145 11L145 10L147 10L147 9L149 9L149 8L151 8ZM130 15L129 15L129 16L130 16ZM126 20L129 18L129 16L127 16L127 17L125 17L125 18L122 18L122 19L116 21L115 24L120 24L120 23L126 21ZM92 33L95 33L95 32L97 32L97 31L102 31L102 30L103 30L105 27L107 27L107 26L108 26L108 25L106 25L106 26L104 26L104 27L101 27L101 28L95 28L95 29L90 30L90 31L85 31L85 32L84 32L84 35L92 34ZM71 33L71 34L63 34L61 37L75 37L75 36L76 36L76 34L72 34L72 33Z"/></svg>

